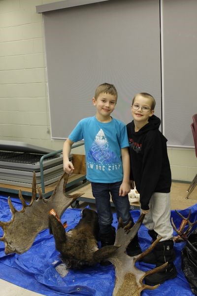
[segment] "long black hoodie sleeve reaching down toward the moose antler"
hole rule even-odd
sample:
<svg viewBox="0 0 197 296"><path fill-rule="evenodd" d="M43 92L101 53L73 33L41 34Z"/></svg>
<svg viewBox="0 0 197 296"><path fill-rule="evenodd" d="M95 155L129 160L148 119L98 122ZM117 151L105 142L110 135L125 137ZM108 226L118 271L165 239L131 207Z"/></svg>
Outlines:
<svg viewBox="0 0 197 296"><path fill-rule="evenodd" d="M141 209L149 209L150 198L160 178L163 161L162 138L158 131L150 131L144 139L144 155L140 185Z"/></svg>

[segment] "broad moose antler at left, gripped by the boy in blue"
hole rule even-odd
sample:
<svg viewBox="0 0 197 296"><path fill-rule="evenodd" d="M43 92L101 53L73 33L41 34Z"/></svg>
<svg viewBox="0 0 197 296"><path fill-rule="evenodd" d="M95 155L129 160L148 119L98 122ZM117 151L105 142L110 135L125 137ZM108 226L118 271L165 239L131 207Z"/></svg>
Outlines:
<svg viewBox="0 0 197 296"><path fill-rule="evenodd" d="M64 173L51 197L48 199L42 198L42 192L37 187L39 197L36 200L36 178L35 173L33 173L32 199L30 204L25 202L19 190L19 199L23 205L21 211L17 211L14 208L10 197L8 197L12 218L9 222L0 221L0 226L4 232L0 240L5 244L5 254L22 254L29 250L36 235L41 230L48 228L49 211L54 209L58 216L61 217L66 208L83 194L66 195L67 180L68 174Z"/></svg>

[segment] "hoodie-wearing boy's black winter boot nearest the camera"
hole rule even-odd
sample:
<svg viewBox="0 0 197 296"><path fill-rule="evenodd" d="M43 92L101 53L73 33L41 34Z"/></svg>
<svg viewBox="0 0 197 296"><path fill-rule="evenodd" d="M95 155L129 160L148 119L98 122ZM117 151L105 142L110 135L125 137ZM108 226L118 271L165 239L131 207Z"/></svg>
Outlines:
<svg viewBox="0 0 197 296"><path fill-rule="evenodd" d="M158 285L164 283L166 280L173 279L177 275L176 268L173 264L175 259L175 252L173 248L173 240L166 240L159 242L154 249L154 254L157 259L156 267L161 266L168 262L167 266L154 274L149 274L145 277L144 282L146 285Z"/></svg>

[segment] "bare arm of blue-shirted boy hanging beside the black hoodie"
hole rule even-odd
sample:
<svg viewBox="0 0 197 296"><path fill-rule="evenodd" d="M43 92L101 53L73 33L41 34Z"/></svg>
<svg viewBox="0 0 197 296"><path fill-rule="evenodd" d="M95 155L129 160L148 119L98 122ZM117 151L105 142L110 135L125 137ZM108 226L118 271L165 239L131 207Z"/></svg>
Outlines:
<svg viewBox="0 0 197 296"><path fill-rule="evenodd" d="M128 147L121 149L123 163L123 182L120 185L119 195L125 196L131 190L130 188L130 155Z"/></svg>

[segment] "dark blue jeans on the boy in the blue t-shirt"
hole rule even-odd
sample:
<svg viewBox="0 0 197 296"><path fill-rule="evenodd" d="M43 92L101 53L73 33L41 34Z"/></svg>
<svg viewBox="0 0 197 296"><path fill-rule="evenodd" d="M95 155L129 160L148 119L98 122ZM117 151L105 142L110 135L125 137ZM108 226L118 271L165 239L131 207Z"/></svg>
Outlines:
<svg viewBox="0 0 197 296"><path fill-rule="evenodd" d="M124 225L127 225L130 221L133 222L130 214L128 194L125 196L119 196L119 188L121 184L122 181L116 183L91 183L93 196L96 201L97 213L99 215L100 233L109 233L113 222L110 194L116 209L117 219L119 220L121 217Z"/></svg>

